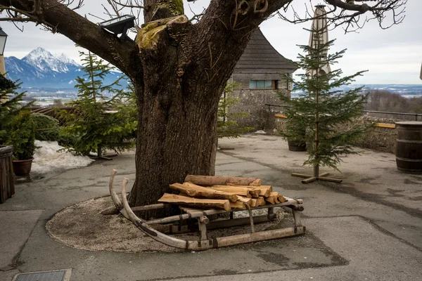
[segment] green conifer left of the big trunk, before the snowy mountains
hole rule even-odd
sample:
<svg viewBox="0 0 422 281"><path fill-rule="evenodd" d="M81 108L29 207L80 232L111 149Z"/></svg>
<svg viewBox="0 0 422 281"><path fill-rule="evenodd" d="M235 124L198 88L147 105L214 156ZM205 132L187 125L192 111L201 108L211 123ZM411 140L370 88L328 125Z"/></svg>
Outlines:
<svg viewBox="0 0 422 281"><path fill-rule="evenodd" d="M121 89L120 77L110 85L104 85L103 79L113 70L91 52L79 52L82 58L82 77L77 77L75 88L78 89L77 100L70 103L75 108L73 113L62 111L65 118L62 136L71 141L71 147L77 154L88 155L89 152L98 152L98 156L105 148L120 152L134 144L132 136L136 124L128 124L129 117L119 110L110 114L107 110L116 107L122 109L123 101L130 96ZM108 99L106 96L113 95ZM128 105L134 107L134 104ZM136 115L132 118L136 119ZM134 122L132 122L134 123Z"/></svg>

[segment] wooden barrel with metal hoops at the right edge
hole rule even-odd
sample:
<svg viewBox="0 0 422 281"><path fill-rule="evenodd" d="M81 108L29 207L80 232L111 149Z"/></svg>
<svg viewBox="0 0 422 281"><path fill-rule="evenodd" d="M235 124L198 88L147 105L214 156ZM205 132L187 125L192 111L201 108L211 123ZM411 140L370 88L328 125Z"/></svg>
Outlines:
<svg viewBox="0 0 422 281"><path fill-rule="evenodd" d="M397 122L396 164L399 171L422 174L422 122Z"/></svg>

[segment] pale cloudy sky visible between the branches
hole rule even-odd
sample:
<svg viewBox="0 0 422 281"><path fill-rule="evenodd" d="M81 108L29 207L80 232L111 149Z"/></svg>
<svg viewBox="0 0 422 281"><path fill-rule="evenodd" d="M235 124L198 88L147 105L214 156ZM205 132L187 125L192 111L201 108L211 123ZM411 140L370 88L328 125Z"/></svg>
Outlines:
<svg viewBox="0 0 422 281"><path fill-rule="evenodd" d="M312 1L313 4L322 2ZM90 17L89 13L108 19L101 11L102 2L105 1L85 0L85 6L79 13L87 14L94 22L101 20ZM188 3L184 2L188 13ZM207 3L207 0L198 0L190 5L193 11L201 11ZM309 0L294 0L292 5L298 11L303 11L305 3L309 4ZM406 10L404 22L388 30L381 30L375 21L369 22L359 33L344 34L341 28L332 30L329 37L336 39L333 51L347 48L338 67L345 74L369 70L364 77L357 79L358 84L422 84L419 79L422 63L422 1L409 0ZM2 22L1 27L9 35L5 56L23 58L32 49L42 47L51 53L65 53L79 62L78 49L63 35L40 30L32 23L24 26L24 32L17 30L10 22ZM261 25L262 32L274 48L290 59L295 59L300 53L298 44L307 44L309 33L303 28L309 29L310 22L293 25L274 17Z"/></svg>

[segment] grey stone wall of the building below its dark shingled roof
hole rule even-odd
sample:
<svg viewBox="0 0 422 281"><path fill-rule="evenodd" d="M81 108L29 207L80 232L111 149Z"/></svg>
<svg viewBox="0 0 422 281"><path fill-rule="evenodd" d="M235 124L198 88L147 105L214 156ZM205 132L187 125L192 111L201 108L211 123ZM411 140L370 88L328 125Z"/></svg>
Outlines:
<svg viewBox="0 0 422 281"><path fill-rule="evenodd" d="M274 89L249 89L250 80L279 80L278 91L290 96L287 89L290 85L281 81L280 74L262 73L234 73L231 81L240 84L234 89L232 96L239 98L239 102L230 107L229 112L246 112L248 117L236 119L240 126L251 126L255 130L269 131L274 129L274 113L279 111L278 107L270 105L282 105ZM291 87L291 86L290 86Z"/></svg>

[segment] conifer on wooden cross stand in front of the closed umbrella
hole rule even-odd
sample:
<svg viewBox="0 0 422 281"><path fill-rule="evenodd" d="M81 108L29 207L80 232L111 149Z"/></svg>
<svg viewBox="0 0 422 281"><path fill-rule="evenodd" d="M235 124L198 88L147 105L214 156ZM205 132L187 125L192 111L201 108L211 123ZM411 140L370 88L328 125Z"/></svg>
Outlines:
<svg viewBox="0 0 422 281"><path fill-rule="evenodd" d="M293 82L293 91L300 92L299 97L290 99L279 94L279 98L289 106L285 111L288 117L285 136L307 144L309 157L304 164L314 167L313 176L293 174L309 177L302 183L319 179L319 166L337 169L340 155L357 154L352 148L352 141L362 136L367 128L353 122L364 110L366 95L363 94L363 87L340 90L341 86L350 85L364 71L345 77L342 77L343 72L340 69L326 73L326 66L337 63L345 50L327 54L335 40L321 42L321 33L324 30L313 32L316 44L300 46L305 55L299 54L299 60L295 62L298 68L305 70L305 74L298 74L298 81L286 77ZM306 131L305 136L301 133L303 129Z"/></svg>

